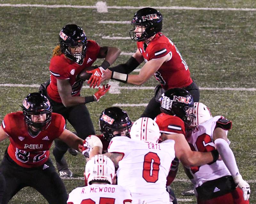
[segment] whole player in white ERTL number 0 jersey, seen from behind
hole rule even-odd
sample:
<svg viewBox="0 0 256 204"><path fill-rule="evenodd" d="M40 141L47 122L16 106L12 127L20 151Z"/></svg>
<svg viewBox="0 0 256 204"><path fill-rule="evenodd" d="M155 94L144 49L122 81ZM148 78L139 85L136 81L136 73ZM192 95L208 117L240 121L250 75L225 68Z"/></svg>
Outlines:
<svg viewBox="0 0 256 204"><path fill-rule="evenodd" d="M92 136L88 142L92 148L90 156L101 153L100 139ZM133 123L130 136L113 137L108 153L104 154L119 166L116 172L118 185L131 191L135 204L143 201L148 204L171 203L166 192L166 177L175 155L174 141L158 144L159 128L155 121L145 117ZM94 151L95 148L99 148L99 152Z"/></svg>

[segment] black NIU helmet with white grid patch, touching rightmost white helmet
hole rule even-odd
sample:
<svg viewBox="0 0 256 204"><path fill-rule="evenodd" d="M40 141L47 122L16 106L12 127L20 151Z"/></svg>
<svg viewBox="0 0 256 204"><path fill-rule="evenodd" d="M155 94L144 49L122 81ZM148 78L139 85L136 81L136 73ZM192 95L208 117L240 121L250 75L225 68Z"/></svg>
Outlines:
<svg viewBox="0 0 256 204"><path fill-rule="evenodd" d="M174 88L165 91L162 94L160 110L179 117L188 126L195 118L194 100L186 89Z"/></svg>

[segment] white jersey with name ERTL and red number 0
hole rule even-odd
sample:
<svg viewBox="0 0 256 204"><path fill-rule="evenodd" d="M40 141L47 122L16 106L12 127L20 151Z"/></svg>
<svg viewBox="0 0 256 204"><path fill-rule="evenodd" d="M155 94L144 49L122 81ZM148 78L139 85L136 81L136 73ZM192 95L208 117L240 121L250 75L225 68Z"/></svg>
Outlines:
<svg viewBox="0 0 256 204"><path fill-rule="evenodd" d="M138 203L138 199L143 198L148 203L169 203L165 187L175 157L173 140L158 144L114 137L109 143L108 152L123 154L118 162L117 184L130 190L132 203Z"/></svg>

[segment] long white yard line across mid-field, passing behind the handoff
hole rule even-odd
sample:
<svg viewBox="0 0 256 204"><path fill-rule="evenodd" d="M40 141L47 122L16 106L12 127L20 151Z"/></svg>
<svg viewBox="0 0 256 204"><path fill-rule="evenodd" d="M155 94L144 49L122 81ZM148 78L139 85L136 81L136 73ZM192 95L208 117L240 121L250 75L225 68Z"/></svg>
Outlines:
<svg viewBox="0 0 256 204"><path fill-rule="evenodd" d="M109 82L110 83L110 82ZM111 82L112 83L112 82ZM119 83L119 82L117 82ZM116 86L115 84L114 86ZM40 84L0 84L1 86L8 86L8 87L32 87L32 88L39 88ZM84 89L89 89L90 86L83 86ZM117 86L116 86L117 88ZM125 89L125 90L151 90L155 89L153 86L119 86L119 89ZM256 91L256 88L217 88L217 87L199 87L200 90L210 90L210 91Z"/></svg>

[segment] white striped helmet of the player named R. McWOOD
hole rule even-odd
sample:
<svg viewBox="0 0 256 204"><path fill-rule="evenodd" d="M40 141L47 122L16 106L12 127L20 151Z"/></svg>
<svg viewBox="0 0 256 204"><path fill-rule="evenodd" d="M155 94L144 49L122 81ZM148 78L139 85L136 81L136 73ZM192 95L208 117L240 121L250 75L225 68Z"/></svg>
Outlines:
<svg viewBox="0 0 256 204"><path fill-rule="evenodd" d="M85 165L85 182L91 185L92 180L113 183L115 178L115 165L105 155L99 154L92 157Z"/></svg>

